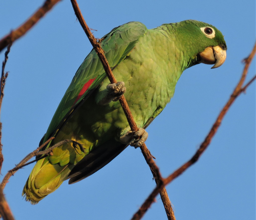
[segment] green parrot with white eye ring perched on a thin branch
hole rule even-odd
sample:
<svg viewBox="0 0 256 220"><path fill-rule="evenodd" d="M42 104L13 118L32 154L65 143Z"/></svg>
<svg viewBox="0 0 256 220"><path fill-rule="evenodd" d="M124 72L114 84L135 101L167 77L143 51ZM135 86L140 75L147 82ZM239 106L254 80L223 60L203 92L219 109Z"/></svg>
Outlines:
<svg viewBox="0 0 256 220"><path fill-rule="evenodd" d="M150 30L140 22L129 22L106 34L100 45L118 83L109 84L92 50L78 68L40 144L50 137L54 139L44 149L65 139L73 142L38 157L22 193L32 204L66 179L72 184L92 175L128 145L140 147L148 136L144 129L170 102L181 73L199 63L219 67L227 50L217 28L196 20ZM123 94L140 128L137 132L130 131L116 102Z"/></svg>

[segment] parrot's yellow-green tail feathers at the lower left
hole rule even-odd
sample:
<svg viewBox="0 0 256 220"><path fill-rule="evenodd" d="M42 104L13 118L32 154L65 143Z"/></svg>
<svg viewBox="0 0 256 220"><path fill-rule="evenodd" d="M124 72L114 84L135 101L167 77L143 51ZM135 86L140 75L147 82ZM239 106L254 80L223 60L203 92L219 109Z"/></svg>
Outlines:
<svg viewBox="0 0 256 220"><path fill-rule="evenodd" d="M74 167L73 164L53 165L48 158L49 156L37 161L23 188L22 196L33 205L55 191Z"/></svg>

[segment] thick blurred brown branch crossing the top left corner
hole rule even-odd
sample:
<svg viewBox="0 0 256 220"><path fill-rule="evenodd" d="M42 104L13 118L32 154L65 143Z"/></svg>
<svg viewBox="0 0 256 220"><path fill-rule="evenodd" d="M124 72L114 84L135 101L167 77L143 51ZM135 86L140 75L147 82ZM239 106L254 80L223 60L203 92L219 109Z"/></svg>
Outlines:
<svg viewBox="0 0 256 220"><path fill-rule="evenodd" d="M25 21L16 30L11 31L10 34L4 36L0 40L0 52L7 47L7 45L13 43L15 40L26 34L28 30L33 27L39 21L39 19L50 11L52 7L59 1L60 0L46 0L44 4L27 21Z"/></svg>

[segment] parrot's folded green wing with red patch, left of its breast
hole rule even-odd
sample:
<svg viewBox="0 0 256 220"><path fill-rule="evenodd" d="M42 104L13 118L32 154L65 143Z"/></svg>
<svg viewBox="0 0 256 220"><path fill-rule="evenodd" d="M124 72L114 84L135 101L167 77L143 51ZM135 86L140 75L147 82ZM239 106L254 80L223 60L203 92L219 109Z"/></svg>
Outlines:
<svg viewBox="0 0 256 220"><path fill-rule="evenodd" d="M114 68L129 55L138 39L147 32L140 22L129 22L114 28L100 43L111 68ZM62 98L44 137L55 136L58 130L83 100L104 80L106 73L98 55L93 49L78 68L70 86Z"/></svg>

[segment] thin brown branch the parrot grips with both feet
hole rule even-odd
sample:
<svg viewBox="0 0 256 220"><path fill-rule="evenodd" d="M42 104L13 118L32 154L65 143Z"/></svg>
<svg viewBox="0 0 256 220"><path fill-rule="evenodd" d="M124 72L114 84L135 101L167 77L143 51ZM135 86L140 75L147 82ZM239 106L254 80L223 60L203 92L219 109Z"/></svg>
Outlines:
<svg viewBox="0 0 256 220"><path fill-rule="evenodd" d="M80 25L82 26L82 28L84 29L84 32L85 34L87 35L89 41L91 42L92 44L92 47L95 49L96 53L98 54L99 58L100 58L100 61L103 65L103 68L108 76L108 79L111 83L116 83L116 79L111 71L111 68L108 64L108 61L104 55L104 51L103 49L101 48L99 42L97 42L97 40L95 39L95 37L92 35L92 32L90 31L90 28L87 26L85 20L84 20L84 17L78 7L78 4L76 2L76 0L71 0L71 4L73 6L73 9L75 11L75 14L76 14L76 17L80 23ZM138 127L135 123L135 120L134 118L132 117L132 113L129 109L129 106L125 100L125 97L124 95L122 95L122 97L119 99L120 101L120 104L124 110L124 114L127 118L127 121L130 125L130 128L132 131L138 131ZM154 162L153 158L152 158L152 155L150 153L150 151L148 150L148 148L146 147L145 144L143 144L141 147L140 147L141 151L142 151L142 154L143 156L145 157L145 160L146 162L148 163L149 167L150 167L150 170L153 174L153 177L155 178L156 180L156 183L157 184L161 184L163 182L163 178L160 174L160 171L159 171L159 168L157 167L156 163ZM168 216L168 219L169 220L175 220L175 218L171 218L169 216L174 216L173 214L173 210L172 210L172 206L171 206L171 202L169 200L169 197L167 195L167 192L165 190L165 192L163 192L163 194L161 193L161 198L164 198L165 202L164 202L164 208L166 210L166 214Z"/></svg>

